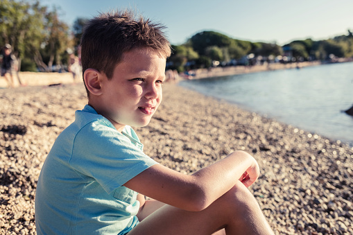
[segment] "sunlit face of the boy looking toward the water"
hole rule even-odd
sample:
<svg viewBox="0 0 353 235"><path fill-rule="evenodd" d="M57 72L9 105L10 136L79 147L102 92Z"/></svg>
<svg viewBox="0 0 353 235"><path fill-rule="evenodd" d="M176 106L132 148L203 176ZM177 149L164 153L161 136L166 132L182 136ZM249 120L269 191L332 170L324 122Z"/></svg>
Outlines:
<svg viewBox="0 0 353 235"><path fill-rule="evenodd" d="M125 125L145 126L162 101L166 58L148 49L132 49L101 83L101 113L120 132Z"/></svg>

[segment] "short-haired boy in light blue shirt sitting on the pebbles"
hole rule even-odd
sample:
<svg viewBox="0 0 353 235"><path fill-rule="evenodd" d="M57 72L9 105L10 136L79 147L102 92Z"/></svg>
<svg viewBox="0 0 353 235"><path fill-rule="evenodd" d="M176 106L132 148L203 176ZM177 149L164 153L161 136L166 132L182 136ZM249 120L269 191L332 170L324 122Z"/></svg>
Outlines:
<svg viewBox="0 0 353 235"><path fill-rule="evenodd" d="M193 175L143 153L130 126L147 125L162 101L171 54L162 28L129 11L101 14L85 27L88 105L42 167L37 234L273 234L246 189L259 176L247 153Z"/></svg>

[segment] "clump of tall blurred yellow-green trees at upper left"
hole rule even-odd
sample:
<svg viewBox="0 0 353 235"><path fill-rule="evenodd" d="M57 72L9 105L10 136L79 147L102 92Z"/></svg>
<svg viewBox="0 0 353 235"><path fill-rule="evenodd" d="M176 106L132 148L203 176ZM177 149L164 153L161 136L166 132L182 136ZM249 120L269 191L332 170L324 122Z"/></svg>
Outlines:
<svg viewBox="0 0 353 235"><path fill-rule="evenodd" d="M40 1L0 0L0 43L12 45L21 64L36 63L42 71L51 71L55 61L71 45L69 27L58 19L58 11L40 6Z"/></svg>

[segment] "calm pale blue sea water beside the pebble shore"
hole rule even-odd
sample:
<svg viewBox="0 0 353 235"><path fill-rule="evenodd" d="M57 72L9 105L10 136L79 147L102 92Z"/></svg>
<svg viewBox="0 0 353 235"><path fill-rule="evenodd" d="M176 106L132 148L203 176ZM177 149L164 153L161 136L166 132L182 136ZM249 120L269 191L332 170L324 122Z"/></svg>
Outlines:
<svg viewBox="0 0 353 235"><path fill-rule="evenodd" d="M236 103L353 146L353 62L185 80L182 87Z"/></svg>

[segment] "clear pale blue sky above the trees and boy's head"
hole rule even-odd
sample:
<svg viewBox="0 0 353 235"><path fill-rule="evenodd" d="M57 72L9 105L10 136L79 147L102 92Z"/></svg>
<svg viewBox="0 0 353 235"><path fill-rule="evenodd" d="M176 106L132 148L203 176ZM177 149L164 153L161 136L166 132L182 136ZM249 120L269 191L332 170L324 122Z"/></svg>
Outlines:
<svg viewBox="0 0 353 235"><path fill-rule="evenodd" d="M326 40L353 32L352 0L42 0L60 7L69 26L78 17L131 8L167 27L171 44L201 31L216 31L251 42L284 45L293 40Z"/></svg>

